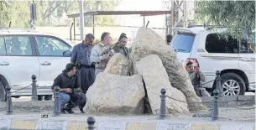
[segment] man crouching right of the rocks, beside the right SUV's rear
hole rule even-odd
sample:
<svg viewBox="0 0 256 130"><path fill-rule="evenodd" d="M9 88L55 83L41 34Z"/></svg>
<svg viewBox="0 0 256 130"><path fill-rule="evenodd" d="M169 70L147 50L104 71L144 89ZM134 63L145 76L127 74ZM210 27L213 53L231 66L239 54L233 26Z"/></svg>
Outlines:
<svg viewBox="0 0 256 130"><path fill-rule="evenodd" d="M206 81L206 76L201 73L199 67L194 69L193 63L188 62L186 64L185 69L190 75L192 85L194 86L194 90L196 91L197 96L210 96L210 94L206 91L205 88L201 86L201 82Z"/></svg>

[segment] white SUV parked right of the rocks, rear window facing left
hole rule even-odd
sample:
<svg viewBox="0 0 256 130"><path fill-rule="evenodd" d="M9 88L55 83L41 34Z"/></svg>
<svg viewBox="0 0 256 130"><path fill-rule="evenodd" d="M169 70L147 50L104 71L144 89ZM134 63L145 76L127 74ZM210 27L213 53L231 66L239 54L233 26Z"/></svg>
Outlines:
<svg viewBox="0 0 256 130"><path fill-rule="evenodd" d="M215 80L216 71L220 70L225 96L255 91L255 53L248 49L247 41L239 42L225 34L226 29L192 27L174 30L175 37L170 46L175 50L177 58L184 65L191 61L199 66L207 81ZM255 44L255 34L251 36L251 42ZM212 91L215 82L203 87Z"/></svg>

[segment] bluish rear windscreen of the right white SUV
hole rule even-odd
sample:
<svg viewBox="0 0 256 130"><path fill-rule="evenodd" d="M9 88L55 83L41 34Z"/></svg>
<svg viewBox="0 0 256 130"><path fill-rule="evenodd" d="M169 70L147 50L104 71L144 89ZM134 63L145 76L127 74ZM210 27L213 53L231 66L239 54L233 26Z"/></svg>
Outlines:
<svg viewBox="0 0 256 130"><path fill-rule="evenodd" d="M176 34L171 46L175 52L190 53L195 34Z"/></svg>

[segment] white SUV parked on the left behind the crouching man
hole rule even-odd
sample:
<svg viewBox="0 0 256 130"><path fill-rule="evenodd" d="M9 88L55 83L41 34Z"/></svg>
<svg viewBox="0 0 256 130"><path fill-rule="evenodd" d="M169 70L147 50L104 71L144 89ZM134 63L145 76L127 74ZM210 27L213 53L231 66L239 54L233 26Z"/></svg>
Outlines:
<svg viewBox="0 0 256 130"><path fill-rule="evenodd" d="M73 45L53 34L29 29L0 30L0 101L6 86L17 91L32 83L36 75L39 100L52 96L50 86L71 60ZM31 96L31 86L13 92L12 96Z"/></svg>

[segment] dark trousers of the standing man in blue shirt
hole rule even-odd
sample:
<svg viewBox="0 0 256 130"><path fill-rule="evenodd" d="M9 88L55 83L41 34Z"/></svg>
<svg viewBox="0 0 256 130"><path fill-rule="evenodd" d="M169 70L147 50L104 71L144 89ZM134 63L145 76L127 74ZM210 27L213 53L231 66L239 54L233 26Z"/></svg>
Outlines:
<svg viewBox="0 0 256 130"><path fill-rule="evenodd" d="M77 70L76 75L78 77L78 86L83 93L86 93L95 81L95 68L81 67L80 70Z"/></svg>

